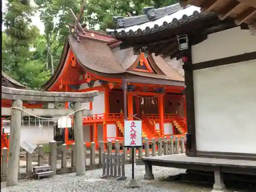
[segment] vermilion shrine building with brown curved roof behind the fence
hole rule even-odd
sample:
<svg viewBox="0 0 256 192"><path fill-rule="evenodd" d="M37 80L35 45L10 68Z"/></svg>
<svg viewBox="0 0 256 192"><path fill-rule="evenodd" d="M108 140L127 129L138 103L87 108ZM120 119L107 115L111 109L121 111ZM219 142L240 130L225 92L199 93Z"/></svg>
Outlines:
<svg viewBox="0 0 256 192"><path fill-rule="evenodd" d="M143 137L186 133L184 71L181 62L155 54L120 50L110 35L77 31L67 37L58 67L42 89L88 92L98 90L93 102L83 103L92 117L83 117L84 142L123 139L123 89L127 85L127 116L142 120ZM66 108L69 103L66 103ZM65 129L65 143L74 142Z"/></svg>

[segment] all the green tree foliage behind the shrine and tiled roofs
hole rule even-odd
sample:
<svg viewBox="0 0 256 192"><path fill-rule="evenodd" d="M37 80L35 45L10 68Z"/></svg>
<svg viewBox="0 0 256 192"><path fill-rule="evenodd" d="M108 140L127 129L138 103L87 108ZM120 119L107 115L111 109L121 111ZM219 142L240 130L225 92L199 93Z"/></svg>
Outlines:
<svg viewBox="0 0 256 192"><path fill-rule="evenodd" d="M79 13L82 0L6 0L2 44L3 70L14 79L33 89L39 88L50 78L46 66L56 67L63 45L69 34L67 23L74 23L70 9ZM87 0L80 23L88 28L104 31L114 28L113 16L135 16L143 14L144 7L164 7L178 0ZM32 26L31 18L39 11L45 26L44 35Z"/></svg>

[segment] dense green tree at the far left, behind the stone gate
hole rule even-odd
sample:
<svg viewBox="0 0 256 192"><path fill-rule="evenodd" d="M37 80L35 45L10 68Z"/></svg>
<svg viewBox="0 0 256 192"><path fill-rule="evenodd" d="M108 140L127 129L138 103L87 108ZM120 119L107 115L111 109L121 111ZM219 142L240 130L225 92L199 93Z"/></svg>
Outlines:
<svg viewBox="0 0 256 192"><path fill-rule="evenodd" d="M32 58L31 48L40 35L38 28L31 25L35 9L26 0L7 0L6 8L6 29L2 43L3 70L25 86L36 89L49 78L49 72L44 71L40 60Z"/></svg>

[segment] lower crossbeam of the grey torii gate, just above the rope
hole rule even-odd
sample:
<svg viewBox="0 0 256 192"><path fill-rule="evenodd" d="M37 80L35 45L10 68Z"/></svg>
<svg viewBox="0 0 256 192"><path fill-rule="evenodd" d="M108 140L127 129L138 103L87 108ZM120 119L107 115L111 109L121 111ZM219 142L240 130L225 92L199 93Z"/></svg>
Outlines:
<svg viewBox="0 0 256 192"><path fill-rule="evenodd" d="M1 111L2 116L11 116L11 108L1 108L1 110L2 110ZM72 109L24 109L24 110L36 116L66 116L75 111ZM83 110L82 115L92 116L92 110ZM23 116L32 117L31 115L25 112Z"/></svg>

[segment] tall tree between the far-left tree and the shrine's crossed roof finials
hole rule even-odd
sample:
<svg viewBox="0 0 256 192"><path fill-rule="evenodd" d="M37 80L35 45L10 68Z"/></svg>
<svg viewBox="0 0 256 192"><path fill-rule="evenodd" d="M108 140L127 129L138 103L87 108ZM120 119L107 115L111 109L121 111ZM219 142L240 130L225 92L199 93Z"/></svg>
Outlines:
<svg viewBox="0 0 256 192"><path fill-rule="evenodd" d="M45 26L45 39L47 44L46 66L50 66L51 56L53 65L57 66L66 37L69 34L67 23L74 23L70 15L70 8L79 12L78 0L36 0L40 12L41 22ZM47 67L48 68L48 67Z"/></svg>

